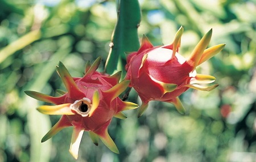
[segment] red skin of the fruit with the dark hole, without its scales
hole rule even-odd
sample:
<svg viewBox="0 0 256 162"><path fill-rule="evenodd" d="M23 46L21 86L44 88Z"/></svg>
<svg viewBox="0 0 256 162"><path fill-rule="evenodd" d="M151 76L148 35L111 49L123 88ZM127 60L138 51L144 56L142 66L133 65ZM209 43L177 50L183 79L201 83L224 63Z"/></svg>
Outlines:
<svg viewBox="0 0 256 162"><path fill-rule="evenodd" d="M100 93L100 104L90 117L82 117L80 114L64 115L67 117L68 122L73 126L83 127L85 131L96 131L101 129L105 123L110 123L115 113L120 112L121 99L115 98L110 103L111 96L104 96L102 91L106 91L117 84L117 80L109 78L109 75L102 75L95 71L93 75L84 76L83 78L73 78L77 87L82 92L82 95L78 95L76 99L71 99L69 93L61 96L61 102L57 104L74 103L76 100L80 100L86 97L92 101L93 93L98 91ZM76 113L73 111L73 113ZM109 125L109 124L108 124Z"/></svg>

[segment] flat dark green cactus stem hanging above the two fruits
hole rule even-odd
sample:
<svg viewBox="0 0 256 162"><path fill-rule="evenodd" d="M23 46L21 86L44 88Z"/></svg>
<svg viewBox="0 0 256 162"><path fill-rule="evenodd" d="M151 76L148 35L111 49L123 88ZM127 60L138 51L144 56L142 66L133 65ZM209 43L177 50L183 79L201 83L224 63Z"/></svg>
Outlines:
<svg viewBox="0 0 256 162"><path fill-rule="evenodd" d="M106 61L105 71L114 74L122 71L123 78L126 74L126 54L139 49L138 27L141 21L141 9L138 0L117 1L118 20L110 42L109 56Z"/></svg>

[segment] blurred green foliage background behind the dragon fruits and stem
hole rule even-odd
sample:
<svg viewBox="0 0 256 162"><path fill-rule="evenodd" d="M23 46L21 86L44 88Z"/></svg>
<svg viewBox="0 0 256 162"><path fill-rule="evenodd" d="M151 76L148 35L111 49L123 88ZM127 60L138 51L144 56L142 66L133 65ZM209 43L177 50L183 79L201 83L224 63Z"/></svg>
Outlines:
<svg viewBox="0 0 256 162"><path fill-rule="evenodd" d="M109 126L120 154L84 133L77 161L256 161L256 1L141 0L139 37L169 44L183 25L180 54L189 56L213 28L210 46L221 53L198 67L216 76L211 92L181 95L185 116L174 106L152 101L146 113L125 112ZM55 66L62 61L82 76L86 61L109 53L117 21L115 1L0 1L0 161L75 161L69 154L72 128L47 142L41 138L60 116L36 111L44 104L26 90L56 95L64 89ZM133 12L131 10L131 12ZM131 91L129 101L139 103Z"/></svg>

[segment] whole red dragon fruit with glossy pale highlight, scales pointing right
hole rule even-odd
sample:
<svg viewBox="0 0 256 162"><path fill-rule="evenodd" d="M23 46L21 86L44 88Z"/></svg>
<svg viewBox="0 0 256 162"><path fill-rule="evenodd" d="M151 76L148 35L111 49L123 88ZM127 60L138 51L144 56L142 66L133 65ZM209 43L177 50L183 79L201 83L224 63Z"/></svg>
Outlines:
<svg viewBox="0 0 256 162"><path fill-rule="evenodd" d="M211 91L218 86L218 84L202 85L213 83L216 78L197 74L195 69L220 52L225 44L206 49L212 36L210 29L196 45L191 56L185 59L178 53L182 33L183 27L180 27L174 42L164 46L153 46L147 37L143 36L138 52L131 52L127 56L126 79L131 81L129 87L133 87L142 100L138 117L152 100L172 103L180 113L184 114L185 109L179 99L181 93L188 88Z"/></svg>

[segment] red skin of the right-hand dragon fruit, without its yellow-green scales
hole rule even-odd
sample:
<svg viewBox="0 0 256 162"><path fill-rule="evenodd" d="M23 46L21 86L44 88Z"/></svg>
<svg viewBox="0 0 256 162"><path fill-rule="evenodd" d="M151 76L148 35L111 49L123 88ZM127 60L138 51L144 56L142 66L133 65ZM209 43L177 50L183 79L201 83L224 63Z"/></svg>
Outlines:
<svg viewBox="0 0 256 162"><path fill-rule="evenodd" d="M193 71L193 67L187 62L181 64L176 56L166 63L158 62L152 59L146 59L141 67L142 58L152 50L159 47L141 49L138 52L131 53L127 58L127 75L126 79L131 80L130 87L134 87L135 91L141 97L143 103L151 100L170 101L181 93L187 91L191 77L189 73ZM172 50L170 50L170 54ZM141 51L141 53L139 53ZM158 53L159 55L161 53ZM139 68L141 69L139 70ZM150 76L160 82L177 84L175 91L163 93L163 87L150 78Z"/></svg>

